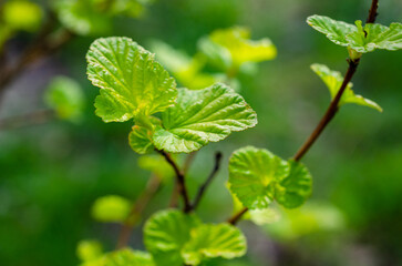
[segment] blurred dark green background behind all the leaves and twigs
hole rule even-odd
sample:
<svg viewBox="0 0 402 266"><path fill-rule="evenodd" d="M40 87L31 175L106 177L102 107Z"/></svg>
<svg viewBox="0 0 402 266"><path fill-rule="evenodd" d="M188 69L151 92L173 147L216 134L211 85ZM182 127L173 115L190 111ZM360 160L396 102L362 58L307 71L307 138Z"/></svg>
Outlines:
<svg viewBox="0 0 402 266"><path fill-rule="evenodd" d="M364 20L370 3L158 0L141 18L117 17L109 32L75 37L54 55L32 64L9 83L1 99L1 119L43 109L43 92L60 74L81 84L86 108L81 123L54 120L0 131L0 265L78 265L75 248L84 238L100 239L113 249L120 226L93 221L92 203L109 194L135 200L150 178L127 144L131 123L105 124L94 115L97 89L85 74L85 53L94 39L126 35L145 48L157 39L188 54L195 53L199 38L231 25L248 27L252 39L272 40L277 58L260 63L254 75L239 78L240 93L257 112L258 125L207 145L189 171L194 195L213 167L214 152L224 152L223 170L198 211L205 221L219 222L231 213L224 187L230 153L255 145L290 157L329 103L329 93L310 64L347 69L347 50L313 31L306 18L317 13L352 23ZM401 10L400 0L380 0L378 22L401 22ZM35 34L16 33L6 43L7 57L17 58ZM259 227L241 222L249 252L221 265L402 265L401 62L402 52L377 51L362 58L354 91L378 102L384 112L347 105L311 149L303 162L313 176L307 206L313 211L289 214L290 224ZM144 217L165 208L171 193L169 183ZM143 248L141 225L131 246Z"/></svg>

